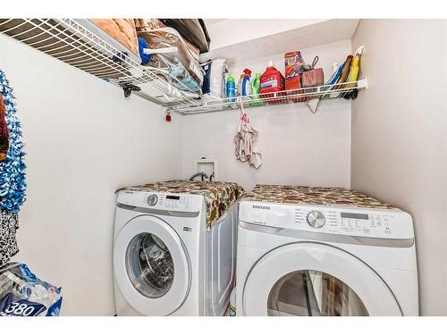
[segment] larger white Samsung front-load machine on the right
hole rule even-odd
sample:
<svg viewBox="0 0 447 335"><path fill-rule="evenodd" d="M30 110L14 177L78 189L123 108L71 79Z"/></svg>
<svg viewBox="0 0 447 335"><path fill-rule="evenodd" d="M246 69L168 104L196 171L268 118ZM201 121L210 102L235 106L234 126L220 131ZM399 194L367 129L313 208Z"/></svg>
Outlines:
<svg viewBox="0 0 447 335"><path fill-rule="evenodd" d="M418 315L411 216L240 202L238 315Z"/></svg>

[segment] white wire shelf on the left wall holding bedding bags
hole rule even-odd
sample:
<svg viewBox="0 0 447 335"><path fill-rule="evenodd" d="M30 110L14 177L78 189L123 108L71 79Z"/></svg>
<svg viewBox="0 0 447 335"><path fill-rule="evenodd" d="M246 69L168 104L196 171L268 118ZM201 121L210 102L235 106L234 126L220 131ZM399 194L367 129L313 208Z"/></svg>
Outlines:
<svg viewBox="0 0 447 335"><path fill-rule="evenodd" d="M199 105L198 94L169 74L172 63L165 62L168 70L141 66L76 20L0 19L0 32L117 87L138 87L135 94L157 105Z"/></svg>

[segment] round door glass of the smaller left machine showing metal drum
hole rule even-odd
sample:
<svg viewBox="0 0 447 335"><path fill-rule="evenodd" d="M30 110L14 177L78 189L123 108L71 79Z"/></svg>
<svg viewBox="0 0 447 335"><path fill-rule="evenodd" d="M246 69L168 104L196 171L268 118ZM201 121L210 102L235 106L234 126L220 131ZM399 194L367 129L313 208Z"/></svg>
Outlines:
<svg viewBox="0 0 447 335"><path fill-rule="evenodd" d="M154 234L142 233L131 240L126 270L132 285L145 297L162 297L173 285L173 257Z"/></svg>

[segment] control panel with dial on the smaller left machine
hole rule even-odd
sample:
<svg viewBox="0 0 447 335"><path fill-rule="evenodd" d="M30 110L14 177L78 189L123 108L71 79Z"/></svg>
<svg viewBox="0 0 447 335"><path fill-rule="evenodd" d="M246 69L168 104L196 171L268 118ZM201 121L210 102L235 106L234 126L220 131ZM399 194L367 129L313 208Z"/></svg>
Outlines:
<svg viewBox="0 0 447 335"><path fill-rule="evenodd" d="M132 190L120 191L117 199L117 203L122 205L177 212L199 212L203 201L203 197L198 195Z"/></svg>

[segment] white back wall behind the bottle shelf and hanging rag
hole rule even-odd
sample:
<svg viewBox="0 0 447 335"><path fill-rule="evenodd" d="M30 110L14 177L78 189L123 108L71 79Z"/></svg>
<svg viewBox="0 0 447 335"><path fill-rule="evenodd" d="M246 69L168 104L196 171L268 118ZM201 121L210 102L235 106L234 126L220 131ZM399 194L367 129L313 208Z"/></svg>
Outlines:
<svg viewBox="0 0 447 335"><path fill-rule="evenodd" d="M299 41L297 41L299 47ZM291 46L293 50L293 46ZM308 63L319 55L325 77L331 64L350 54L350 40L301 50ZM247 63L231 64L236 80L245 67L253 74L266 70L268 60L284 70L283 54ZM182 175L190 177L194 161L202 156L217 160L218 180L234 180L251 189L257 183L283 183L350 187L350 101L323 101L316 114L306 105L281 105L246 109L259 131L263 165L258 171L234 155L234 135L239 113L188 115L182 119Z"/></svg>

